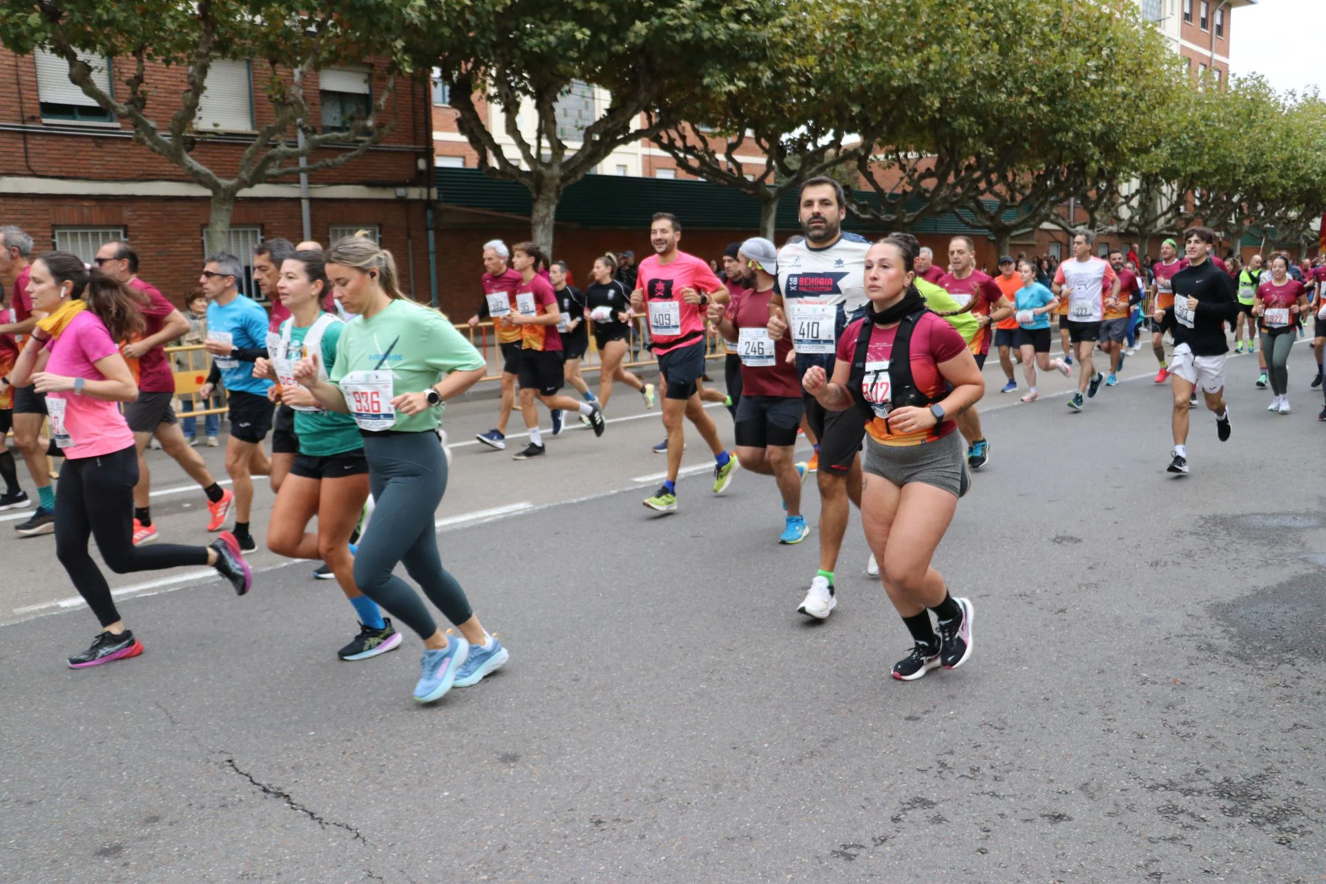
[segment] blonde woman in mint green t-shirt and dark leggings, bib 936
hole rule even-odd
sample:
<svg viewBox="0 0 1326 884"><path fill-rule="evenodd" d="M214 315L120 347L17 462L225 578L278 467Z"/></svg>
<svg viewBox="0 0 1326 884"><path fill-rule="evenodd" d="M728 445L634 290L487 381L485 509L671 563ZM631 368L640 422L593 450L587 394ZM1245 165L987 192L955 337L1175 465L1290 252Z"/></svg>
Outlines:
<svg viewBox="0 0 1326 884"><path fill-rule="evenodd" d="M448 473L439 406L483 378L487 363L447 317L400 293L395 260L371 240L349 237L333 245L326 274L355 319L341 333L329 379L320 378L312 359L301 359L294 376L320 406L350 414L359 425L378 505L359 538L354 583L423 639L414 698L432 702L452 685L477 684L508 659L442 566L432 524ZM419 595L391 573L398 563L460 636L438 628Z"/></svg>

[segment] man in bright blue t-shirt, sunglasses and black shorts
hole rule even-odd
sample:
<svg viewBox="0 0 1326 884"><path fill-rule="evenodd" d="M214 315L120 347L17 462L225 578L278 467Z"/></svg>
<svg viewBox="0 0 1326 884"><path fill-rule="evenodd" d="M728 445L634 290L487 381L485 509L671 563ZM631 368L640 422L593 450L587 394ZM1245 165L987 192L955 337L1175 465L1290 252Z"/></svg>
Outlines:
<svg viewBox="0 0 1326 884"><path fill-rule="evenodd" d="M257 542L249 533L253 505L253 476L267 476L272 464L263 452L263 440L272 429L272 403L267 388L272 382L253 376L253 362L267 355L267 310L244 297L236 280L244 272L240 260L220 252L207 258L199 285L208 293L207 343L212 354L212 374L198 391L199 399L212 396L215 378L225 387L231 435L225 440L225 473L231 477L235 508L235 538L240 550L252 553Z"/></svg>

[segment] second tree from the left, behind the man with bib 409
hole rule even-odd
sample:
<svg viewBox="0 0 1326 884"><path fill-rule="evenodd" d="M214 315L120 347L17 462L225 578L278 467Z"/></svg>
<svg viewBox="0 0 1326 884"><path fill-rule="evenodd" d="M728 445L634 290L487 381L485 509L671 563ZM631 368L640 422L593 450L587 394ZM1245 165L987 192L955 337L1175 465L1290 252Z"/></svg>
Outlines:
<svg viewBox="0 0 1326 884"><path fill-rule="evenodd" d="M696 95L762 77L778 0L443 0L438 25L415 34L420 62L451 86L457 126L479 168L533 197L532 239L553 245L568 186L617 148L676 125ZM455 33L465 36L463 41ZM593 121L561 126L573 90L606 90ZM484 110L495 109L493 121ZM532 126L521 127L522 111ZM514 155L508 154L508 144Z"/></svg>

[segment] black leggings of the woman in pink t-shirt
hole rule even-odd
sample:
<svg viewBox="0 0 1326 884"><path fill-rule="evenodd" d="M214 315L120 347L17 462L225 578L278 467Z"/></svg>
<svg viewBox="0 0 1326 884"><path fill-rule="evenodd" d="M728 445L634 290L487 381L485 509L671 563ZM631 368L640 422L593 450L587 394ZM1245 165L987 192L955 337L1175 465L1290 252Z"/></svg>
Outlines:
<svg viewBox="0 0 1326 884"><path fill-rule="evenodd" d="M106 578L88 553L89 535L97 538L102 559L115 574L207 565L206 546L134 546L137 484L138 452L133 445L99 457L70 457L56 482L56 557L103 627L119 620L119 614Z"/></svg>

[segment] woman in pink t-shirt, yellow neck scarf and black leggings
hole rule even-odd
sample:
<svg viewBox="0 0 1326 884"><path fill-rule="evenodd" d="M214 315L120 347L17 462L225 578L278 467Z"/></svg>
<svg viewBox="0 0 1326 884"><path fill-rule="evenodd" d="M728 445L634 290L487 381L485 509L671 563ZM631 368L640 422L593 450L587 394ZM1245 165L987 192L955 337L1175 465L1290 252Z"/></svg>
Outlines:
<svg viewBox="0 0 1326 884"><path fill-rule="evenodd" d="M143 329L138 294L101 270L89 272L69 252L46 252L32 264L28 294L45 318L12 380L46 394L50 436L65 456L56 488L56 555L102 627L86 651L69 657L81 669L143 652L88 553L89 537L117 574L211 565L240 595L252 575L229 533L211 546L134 546L138 452L117 403L134 402L138 387L115 342Z"/></svg>

